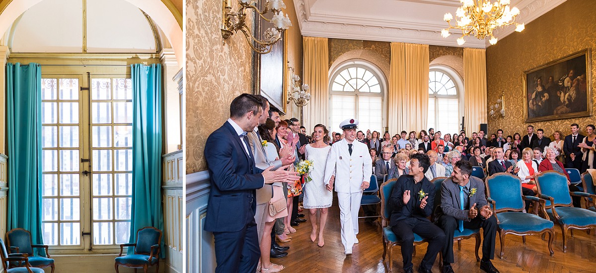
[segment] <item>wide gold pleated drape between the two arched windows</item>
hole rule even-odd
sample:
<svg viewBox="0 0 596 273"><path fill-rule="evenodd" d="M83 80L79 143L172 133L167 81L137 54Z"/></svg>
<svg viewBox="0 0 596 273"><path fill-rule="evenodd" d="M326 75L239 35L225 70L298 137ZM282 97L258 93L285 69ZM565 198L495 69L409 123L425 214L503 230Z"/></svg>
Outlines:
<svg viewBox="0 0 596 273"><path fill-rule="evenodd" d="M389 133L426 130L429 109L429 46L391 43Z"/></svg>

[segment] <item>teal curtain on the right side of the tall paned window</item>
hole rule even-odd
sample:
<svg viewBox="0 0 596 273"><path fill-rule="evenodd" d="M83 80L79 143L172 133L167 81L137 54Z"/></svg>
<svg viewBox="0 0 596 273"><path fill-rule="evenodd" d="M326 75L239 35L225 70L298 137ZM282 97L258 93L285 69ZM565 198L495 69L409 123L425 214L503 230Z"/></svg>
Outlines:
<svg viewBox="0 0 596 273"><path fill-rule="evenodd" d="M132 79L132 217L136 231L156 227L163 232L162 209L162 65L131 65ZM162 236L162 258L165 257ZM131 253L132 249L129 249Z"/></svg>

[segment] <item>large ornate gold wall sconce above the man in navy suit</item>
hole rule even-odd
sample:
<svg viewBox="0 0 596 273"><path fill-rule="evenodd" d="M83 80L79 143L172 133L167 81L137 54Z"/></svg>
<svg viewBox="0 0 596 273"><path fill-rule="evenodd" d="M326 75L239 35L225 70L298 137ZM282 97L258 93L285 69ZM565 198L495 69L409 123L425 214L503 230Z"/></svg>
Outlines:
<svg viewBox="0 0 596 273"><path fill-rule="evenodd" d="M265 8L262 11L256 7L254 0L237 0L238 4L240 4L240 8L238 8L237 12L232 12L231 1L232 0L222 1L224 8L221 30L224 43L230 36L240 31L244 34L246 41L254 52L257 52L258 54L268 54L271 52L272 45L275 45L275 43L281 40L281 33L292 25L288 15L285 14L284 17L283 12L281 12L281 9L285 8L285 4L282 0L267 1L265 3ZM249 9L249 11L250 9L254 10L255 19L260 17L265 21L271 22L275 26L265 30L262 39L254 37L252 30L247 26L247 9ZM269 12L273 13L271 19L265 17Z"/></svg>

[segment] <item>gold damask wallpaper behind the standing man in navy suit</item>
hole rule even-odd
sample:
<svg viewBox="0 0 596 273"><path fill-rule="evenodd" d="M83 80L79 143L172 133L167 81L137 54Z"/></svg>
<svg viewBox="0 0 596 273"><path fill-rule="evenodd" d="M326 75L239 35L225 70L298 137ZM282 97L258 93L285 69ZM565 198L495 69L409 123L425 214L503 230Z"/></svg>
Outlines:
<svg viewBox="0 0 596 273"><path fill-rule="evenodd" d="M222 45L221 0L187 0L186 171L207 169L204 144L229 117L229 103L252 92L252 51L243 35Z"/></svg>

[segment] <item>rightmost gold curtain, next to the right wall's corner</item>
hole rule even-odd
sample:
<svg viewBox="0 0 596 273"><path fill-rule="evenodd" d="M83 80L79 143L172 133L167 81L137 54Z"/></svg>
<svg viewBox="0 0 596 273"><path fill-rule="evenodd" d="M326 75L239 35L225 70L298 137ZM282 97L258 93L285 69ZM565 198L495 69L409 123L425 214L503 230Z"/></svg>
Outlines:
<svg viewBox="0 0 596 273"><path fill-rule="evenodd" d="M486 49L464 48L464 116L468 135L486 123Z"/></svg>

